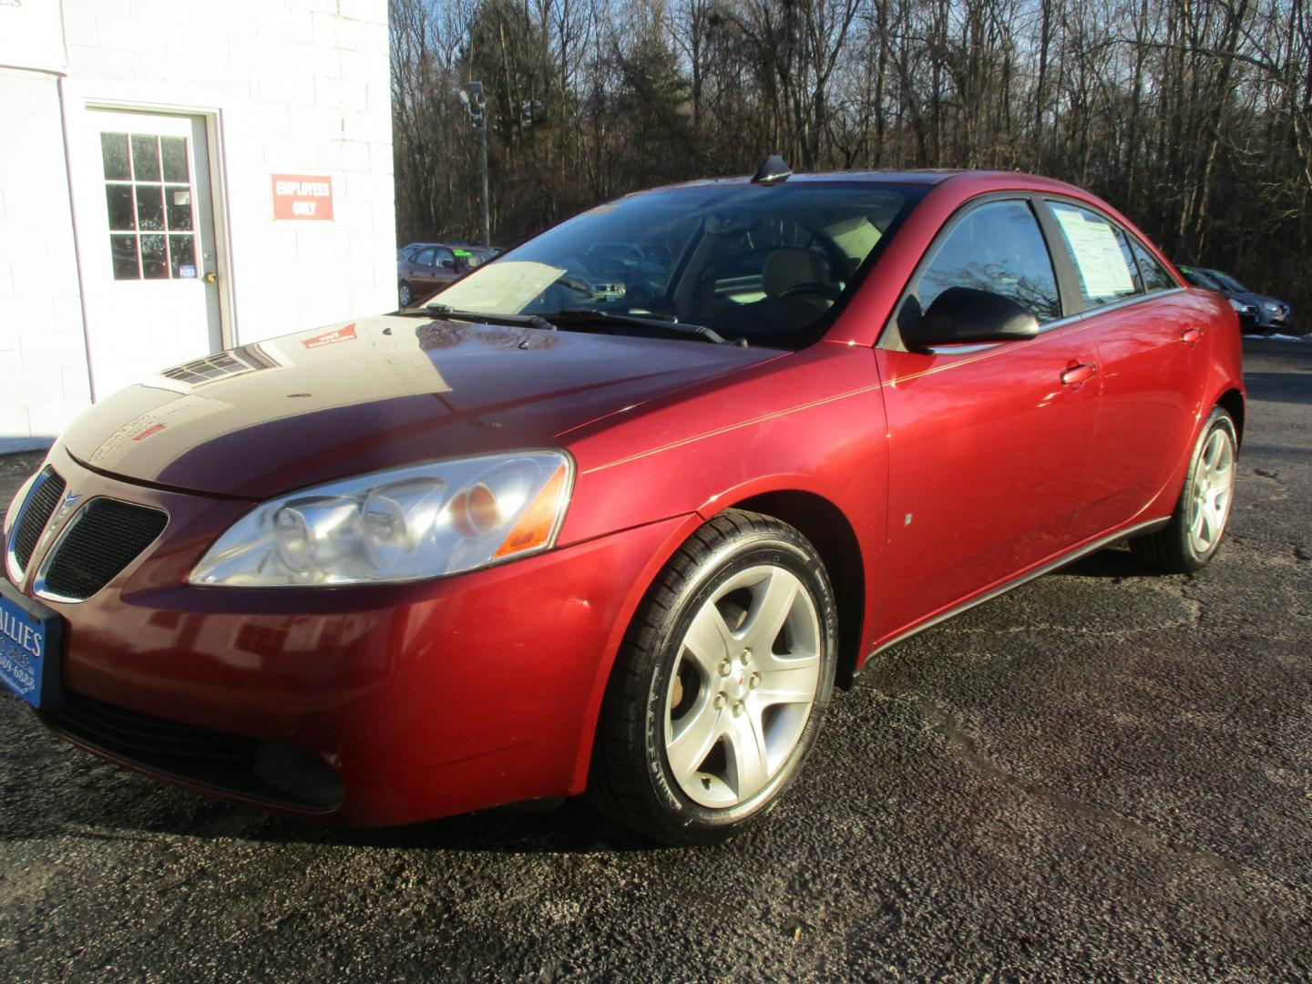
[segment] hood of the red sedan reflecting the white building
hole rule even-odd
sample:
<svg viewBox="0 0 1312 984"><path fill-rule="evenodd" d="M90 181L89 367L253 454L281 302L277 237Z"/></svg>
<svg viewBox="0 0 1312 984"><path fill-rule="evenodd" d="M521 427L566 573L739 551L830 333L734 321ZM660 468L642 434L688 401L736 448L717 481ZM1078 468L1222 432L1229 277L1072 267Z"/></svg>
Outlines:
<svg viewBox="0 0 1312 984"><path fill-rule="evenodd" d="M130 480L268 499L422 461L560 446L568 430L781 354L373 318L165 370L93 405L60 442Z"/></svg>

